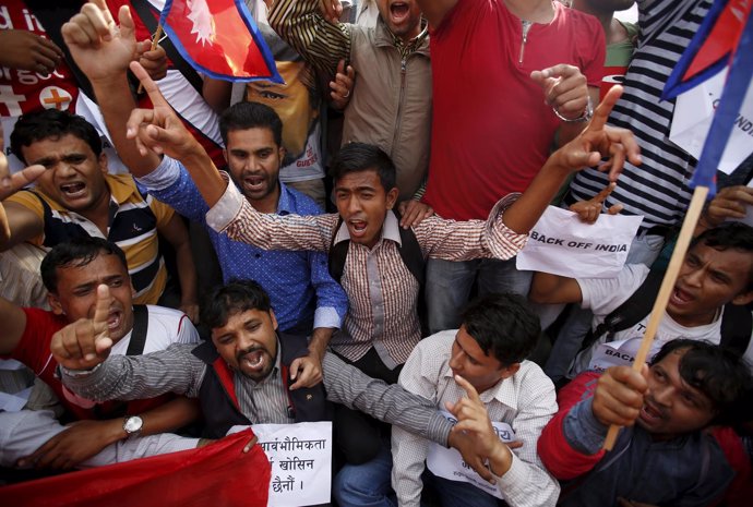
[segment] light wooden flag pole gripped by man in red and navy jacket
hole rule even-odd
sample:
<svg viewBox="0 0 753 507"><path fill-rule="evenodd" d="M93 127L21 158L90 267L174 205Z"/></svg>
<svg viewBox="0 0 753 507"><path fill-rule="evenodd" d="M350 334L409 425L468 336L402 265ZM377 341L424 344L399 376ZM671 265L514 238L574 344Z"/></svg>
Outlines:
<svg viewBox="0 0 753 507"><path fill-rule="evenodd" d="M672 257L669 261L669 266L667 267L667 273L661 281L661 287L659 288L659 293L654 302L654 309L652 310L650 317L648 318L648 324L646 325L646 333L643 335L643 340L641 341L641 348L638 353L635 354L635 361L633 362L633 370L640 372L643 364L646 362L646 357L648 351L652 349L652 343L654 342L654 337L656 336L656 330L659 327L659 322L665 315L665 310L667 309L667 303L669 302L669 297L674 290L674 282L678 279L678 274L680 273L680 267L685 261L685 253L688 253L688 246L693 239L693 232L695 231L695 226L701 217L701 212L703 212L703 205L708 196L708 186L698 185L693 191L693 197L691 198L690 207L688 208L688 214L682 222L682 228L680 229L680 236L678 237L677 244L674 245L674 251L672 252ZM614 447L614 440L617 440L617 435L620 433L621 426L612 424L609 426L609 432L607 433L607 438L603 442L605 450L612 450Z"/></svg>

